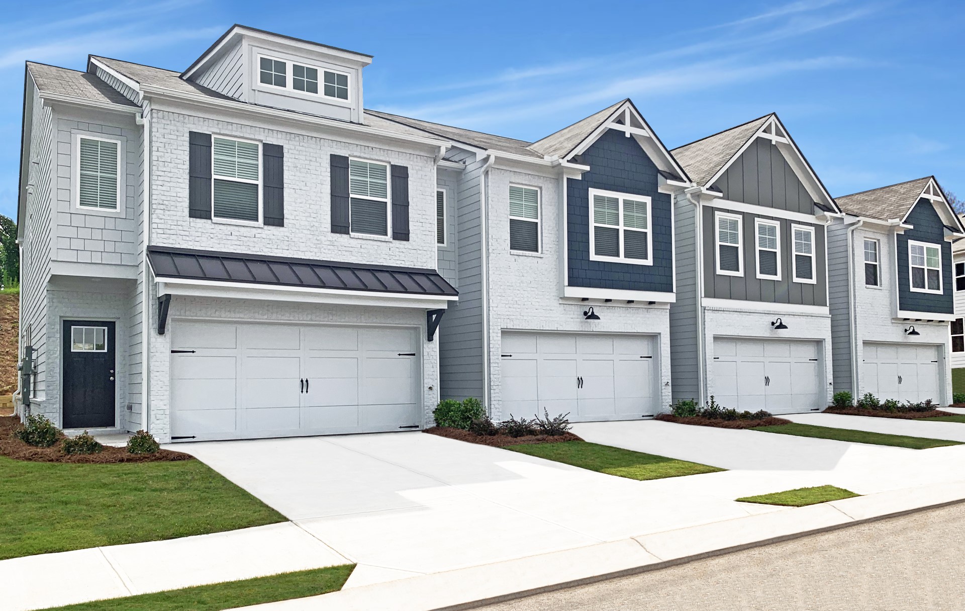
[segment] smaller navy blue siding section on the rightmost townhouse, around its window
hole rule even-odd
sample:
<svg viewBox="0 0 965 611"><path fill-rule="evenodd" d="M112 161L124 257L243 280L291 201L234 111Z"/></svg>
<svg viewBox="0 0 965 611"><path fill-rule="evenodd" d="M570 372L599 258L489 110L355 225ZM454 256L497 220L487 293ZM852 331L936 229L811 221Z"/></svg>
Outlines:
<svg viewBox="0 0 965 611"><path fill-rule="evenodd" d="M951 294L951 243L945 241L945 227L931 202L918 201L905 221L914 225L904 234L897 235L898 308L909 312L936 312L951 314L954 297ZM908 240L942 245L942 294L912 292L908 277Z"/></svg>

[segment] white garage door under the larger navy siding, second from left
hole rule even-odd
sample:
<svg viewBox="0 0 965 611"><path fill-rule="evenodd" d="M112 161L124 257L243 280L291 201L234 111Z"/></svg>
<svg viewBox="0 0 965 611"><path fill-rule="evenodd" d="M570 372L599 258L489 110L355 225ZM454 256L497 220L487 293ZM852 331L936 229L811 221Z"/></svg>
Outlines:
<svg viewBox="0 0 965 611"><path fill-rule="evenodd" d="M653 339L647 335L503 333L502 414L573 422L656 412Z"/></svg>

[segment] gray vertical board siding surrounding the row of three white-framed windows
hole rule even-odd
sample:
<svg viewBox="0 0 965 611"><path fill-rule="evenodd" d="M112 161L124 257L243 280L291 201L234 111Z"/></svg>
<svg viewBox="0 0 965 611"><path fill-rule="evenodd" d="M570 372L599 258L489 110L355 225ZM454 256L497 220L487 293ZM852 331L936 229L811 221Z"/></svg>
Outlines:
<svg viewBox="0 0 965 611"><path fill-rule="evenodd" d="M717 245L715 211L738 214L743 217L742 237L744 248L743 276L729 276L717 273ZM755 219L766 219L781 223L781 280L758 279L757 236ZM791 259L793 238L791 225L803 225L814 229L814 276L815 284L791 281ZM703 294L718 299L741 299L748 301L767 301L799 305L824 306L828 304L826 291L826 265L824 263L824 228L813 223L802 223L786 218L763 216L751 213L734 212L728 208L703 207Z"/></svg>

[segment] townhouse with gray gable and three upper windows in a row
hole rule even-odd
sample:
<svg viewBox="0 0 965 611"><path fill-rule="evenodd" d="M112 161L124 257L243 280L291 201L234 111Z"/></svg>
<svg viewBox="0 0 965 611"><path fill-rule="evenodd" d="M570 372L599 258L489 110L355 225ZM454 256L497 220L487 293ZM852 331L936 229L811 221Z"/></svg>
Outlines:
<svg viewBox="0 0 965 611"><path fill-rule="evenodd" d="M674 398L823 409L833 388L825 228L840 213L834 199L773 114L672 153L695 183L676 200Z"/></svg>

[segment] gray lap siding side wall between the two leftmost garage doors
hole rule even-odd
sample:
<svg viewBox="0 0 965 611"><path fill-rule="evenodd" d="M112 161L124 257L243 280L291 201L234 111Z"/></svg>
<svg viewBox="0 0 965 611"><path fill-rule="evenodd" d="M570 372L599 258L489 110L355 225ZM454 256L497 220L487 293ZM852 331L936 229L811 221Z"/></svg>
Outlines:
<svg viewBox="0 0 965 611"><path fill-rule="evenodd" d="M451 303L439 327L441 397L484 397L483 236L481 196L483 161L469 165L458 182L455 232L458 302Z"/></svg>

